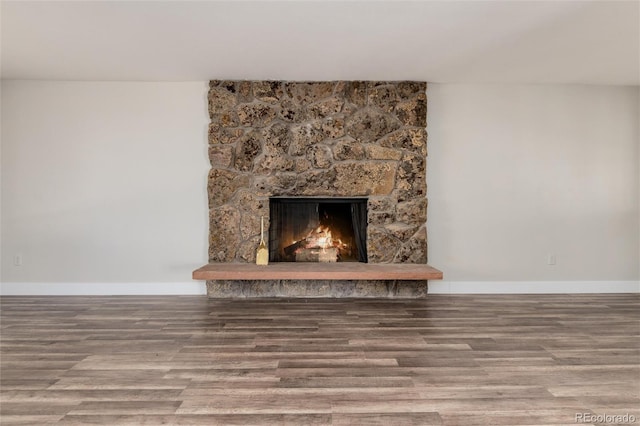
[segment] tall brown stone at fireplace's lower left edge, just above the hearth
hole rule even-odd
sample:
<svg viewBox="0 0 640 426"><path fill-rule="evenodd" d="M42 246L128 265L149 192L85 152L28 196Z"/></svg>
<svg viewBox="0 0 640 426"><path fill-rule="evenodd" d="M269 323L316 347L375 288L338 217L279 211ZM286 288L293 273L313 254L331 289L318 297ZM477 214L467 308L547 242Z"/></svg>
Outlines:
<svg viewBox="0 0 640 426"><path fill-rule="evenodd" d="M209 261L231 262L240 242L240 212L230 206L209 210Z"/></svg>

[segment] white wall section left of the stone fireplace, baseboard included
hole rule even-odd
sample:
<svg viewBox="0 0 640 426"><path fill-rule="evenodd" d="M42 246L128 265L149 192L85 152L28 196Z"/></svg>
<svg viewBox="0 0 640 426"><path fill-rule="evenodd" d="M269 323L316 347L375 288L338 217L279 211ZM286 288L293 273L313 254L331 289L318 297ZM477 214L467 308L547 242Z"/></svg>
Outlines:
<svg viewBox="0 0 640 426"><path fill-rule="evenodd" d="M2 82L4 294L204 292L207 89Z"/></svg>

